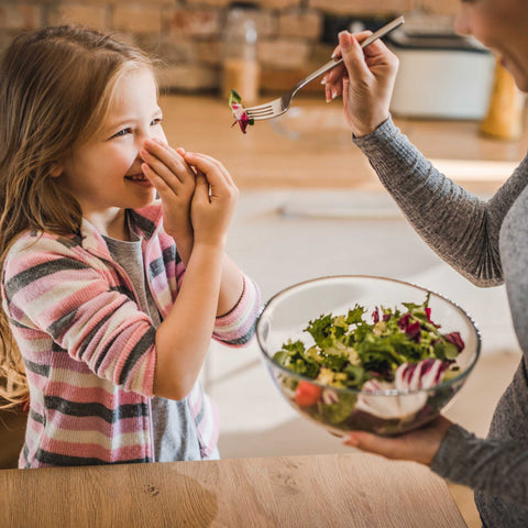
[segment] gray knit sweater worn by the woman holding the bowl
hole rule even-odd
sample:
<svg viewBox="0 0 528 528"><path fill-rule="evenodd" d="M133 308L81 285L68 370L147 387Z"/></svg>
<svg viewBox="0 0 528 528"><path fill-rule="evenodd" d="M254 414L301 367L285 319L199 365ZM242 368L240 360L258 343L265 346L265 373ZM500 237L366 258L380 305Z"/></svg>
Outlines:
<svg viewBox="0 0 528 528"><path fill-rule="evenodd" d="M488 201L440 174L389 118L355 138L420 237L477 286L506 285L522 360L486 440L452 426L431 469L475 491L486 528L528 527L528 156Z"/></svg>

